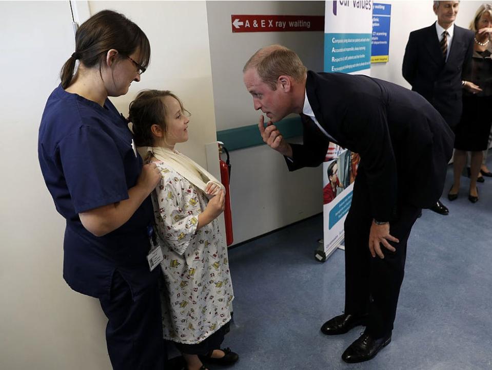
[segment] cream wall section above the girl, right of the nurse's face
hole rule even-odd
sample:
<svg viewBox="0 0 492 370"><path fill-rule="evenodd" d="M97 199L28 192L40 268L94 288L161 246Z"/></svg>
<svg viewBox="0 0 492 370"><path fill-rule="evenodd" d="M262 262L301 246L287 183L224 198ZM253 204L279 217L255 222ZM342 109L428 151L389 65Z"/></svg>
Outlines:
<svg viewBox="0 0 492 370"><path fill-rule="evenodd" d="M131 100L144 88L173 91L192 114L190 138L176 149L207 168L204 145L217 140L217 135L205 2L91 1L89 5L91 14L112 9L127 15L150 40L150 66L128 94L111 99L116 108L127 116ZM218 161L214 165L218 170Z"/></svg>

